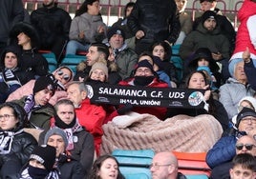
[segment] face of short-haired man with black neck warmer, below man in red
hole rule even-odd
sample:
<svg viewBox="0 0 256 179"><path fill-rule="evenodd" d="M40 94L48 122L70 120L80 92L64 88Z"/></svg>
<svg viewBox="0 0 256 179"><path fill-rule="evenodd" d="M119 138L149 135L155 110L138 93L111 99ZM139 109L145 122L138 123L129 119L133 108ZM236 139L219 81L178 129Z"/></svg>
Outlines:
<svg viewBox="0 0 256 179"><path fill-rule="evenodd" d="M75 118L75 109L72 105L61 104L57 107L57 116L65 124L69 125Z"/></svg>

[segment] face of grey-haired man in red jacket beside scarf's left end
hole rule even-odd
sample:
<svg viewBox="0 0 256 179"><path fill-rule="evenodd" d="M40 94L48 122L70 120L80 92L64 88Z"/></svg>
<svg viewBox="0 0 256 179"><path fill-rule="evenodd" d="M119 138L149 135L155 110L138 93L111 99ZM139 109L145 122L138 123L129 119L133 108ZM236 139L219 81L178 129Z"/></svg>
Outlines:
<svg viewBox="0 0 256 179"><path fill-rule="evenodd" d="M67 89L68 99L73 102L75 107L79 107L82 101L86 98L86 92L80 91L77 84L72 84Z"/></svg>

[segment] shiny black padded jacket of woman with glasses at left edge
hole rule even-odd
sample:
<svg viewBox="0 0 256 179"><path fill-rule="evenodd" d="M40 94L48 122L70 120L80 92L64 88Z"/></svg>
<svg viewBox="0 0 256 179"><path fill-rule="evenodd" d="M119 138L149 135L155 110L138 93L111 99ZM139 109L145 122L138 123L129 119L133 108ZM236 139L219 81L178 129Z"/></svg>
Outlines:
<svg viewBox="0 0 256 179"><path fill-rule="evenodd" d="M17 173L29 160L32 150L37 146L32 135L23 131L23 119L19 119L17 125L15 129L9 130L9 132L14 132L10 152L7 154L0 152L0 178L8 178L8 176L11 177L12 174ZM4 136L2 132L4 130L0 129L1 138Z"/></svg>

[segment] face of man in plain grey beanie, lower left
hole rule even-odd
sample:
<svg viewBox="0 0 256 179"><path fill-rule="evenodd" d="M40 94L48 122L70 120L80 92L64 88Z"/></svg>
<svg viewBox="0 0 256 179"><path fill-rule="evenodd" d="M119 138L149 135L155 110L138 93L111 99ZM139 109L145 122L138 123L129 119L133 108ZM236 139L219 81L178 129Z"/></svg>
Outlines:
<svg viewBox="0 0 256 179"><path fill-rule="evenodd" d="M60 135L53 134L48 138L47 144L56 149L56 157L65 151L65 142Z"/></svg>

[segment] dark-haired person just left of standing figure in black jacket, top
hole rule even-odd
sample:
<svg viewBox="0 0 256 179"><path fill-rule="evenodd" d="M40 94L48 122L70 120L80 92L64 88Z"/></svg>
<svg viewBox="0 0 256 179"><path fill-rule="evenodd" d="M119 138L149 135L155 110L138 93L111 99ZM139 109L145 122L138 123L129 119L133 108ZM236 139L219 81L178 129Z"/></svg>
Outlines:
<svg viewBox="0 0 256 179"><path fill-rule="evenodd" d="M123 18L119 18L116 23L112 25L112 28L121 29L124 31L125 36L125 44L127 44L128 48L135 50L135 36L133 32L127 26L127 19L130 16L132 10L134 9L135 3L129 2L124 7Z"/></svg>

